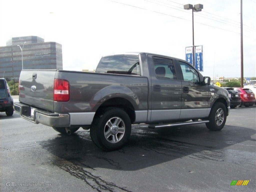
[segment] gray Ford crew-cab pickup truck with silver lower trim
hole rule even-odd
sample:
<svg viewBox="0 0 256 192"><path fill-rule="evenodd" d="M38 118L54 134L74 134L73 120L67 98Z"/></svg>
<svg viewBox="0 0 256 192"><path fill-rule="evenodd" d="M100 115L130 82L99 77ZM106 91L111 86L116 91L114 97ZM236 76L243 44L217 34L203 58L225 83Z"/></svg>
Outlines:
<svg viewBox="0 0 256 192"><path fill-rule="evenodd" d="M230 110L228 91L188 62L145 52L102 57L95 73L22 70L19 90L14 108L24 119L62 134L90 129L106 151L127 142L132 124L219 131Z"/></svg>

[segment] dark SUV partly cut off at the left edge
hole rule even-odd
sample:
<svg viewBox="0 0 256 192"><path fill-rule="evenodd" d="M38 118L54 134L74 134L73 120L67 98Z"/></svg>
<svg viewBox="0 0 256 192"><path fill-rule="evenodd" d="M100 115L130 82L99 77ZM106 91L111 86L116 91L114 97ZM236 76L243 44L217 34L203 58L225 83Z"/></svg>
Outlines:
<svg viewBox="0 0 256 192"><path fill-rule="evenodd" d="M4 78L0 78L0 112L5 112L7 116L13 115L13 98Z"/></svg>

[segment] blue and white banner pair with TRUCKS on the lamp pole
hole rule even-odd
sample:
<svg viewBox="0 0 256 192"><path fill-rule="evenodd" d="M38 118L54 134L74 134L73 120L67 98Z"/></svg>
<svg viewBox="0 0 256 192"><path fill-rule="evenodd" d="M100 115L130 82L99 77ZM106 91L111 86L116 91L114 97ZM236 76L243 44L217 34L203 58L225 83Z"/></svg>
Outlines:
<svg viewBox="0 0 256 192"><path fill-rule="evenodd" d="M193 65L193 47L186 47L186 61ZM195 46L195 68L203 71L203 46Z"/></svg>

